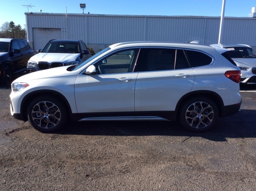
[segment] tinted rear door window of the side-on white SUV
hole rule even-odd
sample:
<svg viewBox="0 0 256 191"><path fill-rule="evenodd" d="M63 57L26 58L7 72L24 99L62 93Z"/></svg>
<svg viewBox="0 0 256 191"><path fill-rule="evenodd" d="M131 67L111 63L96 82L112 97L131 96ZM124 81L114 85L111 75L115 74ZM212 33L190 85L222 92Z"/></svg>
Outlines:
<svg viewBox="0 0 256 191"><path fill-rule="evenodd" d="M144 56L135 71L161 71L189 68L188 61L181 49L145 48Z"/></svg>

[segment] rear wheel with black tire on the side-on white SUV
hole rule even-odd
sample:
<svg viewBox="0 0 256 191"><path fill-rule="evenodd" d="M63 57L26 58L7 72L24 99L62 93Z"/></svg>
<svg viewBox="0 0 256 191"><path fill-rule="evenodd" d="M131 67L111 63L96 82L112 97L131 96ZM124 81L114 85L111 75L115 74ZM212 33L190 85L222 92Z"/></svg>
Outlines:
<svg viewBox="0 0 256 191"><path fill-rule="evenodd" d="M218 107L206 97L195 97L184 102L179 110L180 124L187 130L203 132L212 128L218 120Z"/></svg>

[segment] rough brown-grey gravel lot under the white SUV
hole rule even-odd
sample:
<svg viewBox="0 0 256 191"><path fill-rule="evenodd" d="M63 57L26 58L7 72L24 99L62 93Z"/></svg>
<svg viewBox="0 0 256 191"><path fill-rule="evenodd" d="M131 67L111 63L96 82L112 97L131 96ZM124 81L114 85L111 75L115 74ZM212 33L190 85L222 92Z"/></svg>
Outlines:
<svg viewBox="0 0 256 191"><path fill-rule="evenodd" d="M215 129L174 122L76 122L42 134L9 112L0 88L1 191L254 191L256 86ZM248 91L249 90L249 91Z"/></svg>

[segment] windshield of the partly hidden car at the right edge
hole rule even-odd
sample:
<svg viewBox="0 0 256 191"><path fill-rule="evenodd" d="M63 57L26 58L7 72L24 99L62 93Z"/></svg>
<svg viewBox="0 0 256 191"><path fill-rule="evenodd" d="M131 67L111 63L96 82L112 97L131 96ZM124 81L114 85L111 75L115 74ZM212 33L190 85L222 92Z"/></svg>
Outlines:
<svg viewBox="0 0 256 191"><path fill-rule="evenodd" d="M226 49L231 58L256 58L256 52L250 47L228 47Z"/></svg>

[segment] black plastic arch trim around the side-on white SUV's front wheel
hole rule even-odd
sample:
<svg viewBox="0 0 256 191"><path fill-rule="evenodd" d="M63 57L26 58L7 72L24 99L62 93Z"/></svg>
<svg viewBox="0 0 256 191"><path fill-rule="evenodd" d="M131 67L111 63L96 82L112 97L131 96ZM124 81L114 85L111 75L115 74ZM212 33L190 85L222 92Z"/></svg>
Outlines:
<svg viewBox="0 0 256 191"><path fill-rule="evenodd" d="M67 108L68 110L68 117L70 118L70 114L72 113L70 104L68 103L68 100L65 98L65 96L63 96L61 93L57 92L57 91L52 91L52 90L39 90L39 91L34 91L32 93L29 93L28 95L26 95L22 102L21 102L21 106L20 106L20 112L22 113L22 117L24 121L28 120L28 116L27 116L27 106L30 102L30 100L36 96L54 96L56 98L58 98L58 100L60 100L64 106Z"/></svg>

